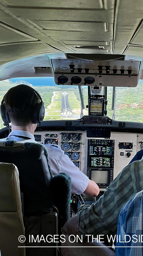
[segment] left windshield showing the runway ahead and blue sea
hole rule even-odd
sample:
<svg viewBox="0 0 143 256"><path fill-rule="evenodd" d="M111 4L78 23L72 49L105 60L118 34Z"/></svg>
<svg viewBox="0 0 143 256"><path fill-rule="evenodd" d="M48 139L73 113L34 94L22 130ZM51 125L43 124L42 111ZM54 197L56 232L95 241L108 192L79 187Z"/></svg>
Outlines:
<svg viewBox="0 0 143 256"><path fill-rule="evenodd" d="M81 117L81 100L78 86L56 85L53 77L12 78L0 81L0 101L13 86L26 84L37 90L44 101L44 120L79 119ZM84 106L88 104L88 87L83 87ZM83 110L87 115L88 110ZM0 128L3 128L0 119Z"/></svg>

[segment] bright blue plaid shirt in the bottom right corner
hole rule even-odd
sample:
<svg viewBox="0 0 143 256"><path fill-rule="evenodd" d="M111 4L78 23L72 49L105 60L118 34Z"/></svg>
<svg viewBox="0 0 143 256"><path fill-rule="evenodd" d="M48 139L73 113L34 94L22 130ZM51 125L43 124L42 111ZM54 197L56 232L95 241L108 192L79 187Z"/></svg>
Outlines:
<svg viewBox="0 0 143 256"><path fill-rule="evenodd" d="M143 191L138 192L121 209L118 217L116 256L143 255L142 196Z"/></svg>

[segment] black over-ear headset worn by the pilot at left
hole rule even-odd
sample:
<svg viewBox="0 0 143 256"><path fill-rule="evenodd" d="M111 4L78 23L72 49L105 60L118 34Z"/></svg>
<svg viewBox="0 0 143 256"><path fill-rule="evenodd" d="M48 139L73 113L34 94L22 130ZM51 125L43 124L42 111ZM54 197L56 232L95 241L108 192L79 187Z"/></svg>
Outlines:
<svg viewBox="0 0 143 256"><path fill-rule="evenodd" d="M19 85L17 85L17 86L19 86ZM30 87L25 84L23 84L23 86ZM34 111L31 113L31 121L32 121L32 123L41 123L43 121L44 115L45 115L44 102L42 100L41 95L36 90L34 90L32 87L31 87L31 89L33 90L33 93L35 93L37 96L37 103L35 105ZM9 116L8 116L8 113L7 113L6 107L5 107L5 96L6 96L6 94L3 96L3 100L1 102L0 112L1 112L1 117L4 121L4 125L9 126L10 119L9 119Z"/></svg>

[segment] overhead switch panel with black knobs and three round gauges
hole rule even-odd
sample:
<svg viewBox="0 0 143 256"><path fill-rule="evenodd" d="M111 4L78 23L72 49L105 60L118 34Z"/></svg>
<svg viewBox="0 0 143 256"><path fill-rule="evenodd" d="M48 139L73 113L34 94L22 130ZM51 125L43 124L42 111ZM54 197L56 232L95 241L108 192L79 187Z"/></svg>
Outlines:
<svg viewBox="0 0 143 256"><path fill-rule="evenodd" d="M55 84L136 87L141 61L51 59ZM74 74L73 74L74 73Z"/></svg>

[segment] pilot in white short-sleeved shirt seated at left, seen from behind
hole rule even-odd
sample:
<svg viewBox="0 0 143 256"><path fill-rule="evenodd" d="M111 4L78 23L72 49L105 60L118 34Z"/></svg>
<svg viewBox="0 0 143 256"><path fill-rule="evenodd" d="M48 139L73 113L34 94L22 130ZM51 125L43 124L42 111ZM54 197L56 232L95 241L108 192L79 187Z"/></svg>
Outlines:
<svg viewBox="0 0 143 256"><path fill-rule="evenodd" d="M38 94L38 93L37 93ZM21 84L12 87L5 94L2 104L5 104L6 113L11 122L11 132L7 140L22 141L34 140L34 131L37 124L31 121L40 98L36 91L27 85ZM43 117L44 118L44 117ZM99 193L99 187L88 179L77 168L70 158L58 146L48 145L49 164L53 175L65 172L71 177L71 189L76 194L84 194L85 197L95 197Z"/></svg>

